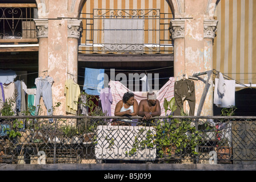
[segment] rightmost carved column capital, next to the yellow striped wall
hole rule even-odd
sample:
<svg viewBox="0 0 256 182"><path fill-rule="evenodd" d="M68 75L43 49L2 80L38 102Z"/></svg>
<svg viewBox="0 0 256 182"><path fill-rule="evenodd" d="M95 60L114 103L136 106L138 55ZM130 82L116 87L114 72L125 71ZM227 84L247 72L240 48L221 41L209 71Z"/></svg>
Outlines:
<svg viewBox="0 0 256 182"><path fill-rule="evenodd" d="M206 19L203 21L203 38L214 39L217 31L218 20Z"/></svg>

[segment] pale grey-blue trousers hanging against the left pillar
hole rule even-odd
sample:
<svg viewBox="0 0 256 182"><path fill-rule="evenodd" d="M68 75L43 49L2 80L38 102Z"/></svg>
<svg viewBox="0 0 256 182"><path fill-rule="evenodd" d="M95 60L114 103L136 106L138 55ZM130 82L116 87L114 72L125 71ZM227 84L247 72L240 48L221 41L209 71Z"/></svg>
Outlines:
<svg viewBox="0 0 256 182"><path fill-rule="evenodd" d="M47 115L53 115L53 97L51 94L53 78L50 76L46 76L45 78L35 78L35 85L37 86L37 94L35 95L35 115L38 115L41 97L43 97L43 102L47 109Z"/></svg>

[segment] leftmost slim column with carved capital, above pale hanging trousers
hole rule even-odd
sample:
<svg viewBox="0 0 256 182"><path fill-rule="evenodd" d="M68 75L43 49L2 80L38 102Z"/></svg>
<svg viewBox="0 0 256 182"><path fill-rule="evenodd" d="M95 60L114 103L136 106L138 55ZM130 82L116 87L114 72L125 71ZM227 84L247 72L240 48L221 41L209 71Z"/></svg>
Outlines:
<svg viewBox="0 0 256 182"><path fill-rule="evenodd" d="M48 20L34 19L37 27L38 51L38 76L47 75L48 71Z"/></svg>

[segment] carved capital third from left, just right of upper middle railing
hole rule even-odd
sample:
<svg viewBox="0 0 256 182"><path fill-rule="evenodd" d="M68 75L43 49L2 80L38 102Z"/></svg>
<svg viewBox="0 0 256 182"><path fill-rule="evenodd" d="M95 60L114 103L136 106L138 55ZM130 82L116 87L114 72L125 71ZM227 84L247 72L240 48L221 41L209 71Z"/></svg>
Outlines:
<svg viewBox="0 0 256 182"><path fill-rule="evenodd" d="M185 20L173 19L170 21L170 33L174 39L185 38Z"/></svg>

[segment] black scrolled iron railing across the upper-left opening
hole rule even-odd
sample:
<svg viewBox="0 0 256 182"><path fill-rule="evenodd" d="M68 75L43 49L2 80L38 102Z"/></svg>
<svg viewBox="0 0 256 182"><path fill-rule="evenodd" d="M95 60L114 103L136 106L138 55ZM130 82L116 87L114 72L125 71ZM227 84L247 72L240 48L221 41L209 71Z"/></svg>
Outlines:
<svg viewBox="0 0 256 182"><path fill-rule="evenodd" d="M35 8L3 5L0 7L0 39L36 39Z"/></svg>

